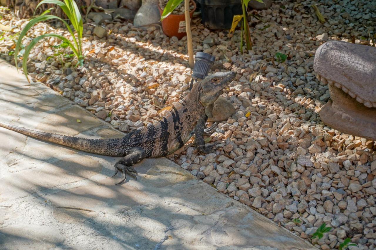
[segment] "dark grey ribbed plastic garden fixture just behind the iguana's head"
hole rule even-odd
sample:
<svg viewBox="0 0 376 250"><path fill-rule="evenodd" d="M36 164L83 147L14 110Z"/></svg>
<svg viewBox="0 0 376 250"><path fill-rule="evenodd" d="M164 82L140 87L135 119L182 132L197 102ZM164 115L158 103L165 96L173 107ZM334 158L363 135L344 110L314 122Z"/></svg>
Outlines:
<svg viewBox="0 0 376 250"><path fill-rule="evenodd" d="M194 59L196 60L196 63L194 64L189 90L192 89L193 81L197 82L198 80L202 80L206 77L206 75L208 75L209 69L215 61L215 56L212 56L208 53L197 52Z"/></svg>

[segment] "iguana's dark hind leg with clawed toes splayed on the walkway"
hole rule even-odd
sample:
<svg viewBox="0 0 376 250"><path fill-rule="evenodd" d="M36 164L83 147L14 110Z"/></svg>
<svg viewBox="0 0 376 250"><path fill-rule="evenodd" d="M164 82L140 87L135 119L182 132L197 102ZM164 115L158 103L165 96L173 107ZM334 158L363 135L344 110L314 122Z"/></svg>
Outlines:
<svg viewBox="0 0 376 250"><path fill-rule="evenodd" d="M116 185L119 185L125 181L127 178L126 173L137 180L137 171L132 167L134 164L138 163L139 161L145 159L146 152L143 148L135 147L132 148L123 159L115 163L115 174L112 176L114 177L120 171L123 173L123 179L118 182Z"/></svg>

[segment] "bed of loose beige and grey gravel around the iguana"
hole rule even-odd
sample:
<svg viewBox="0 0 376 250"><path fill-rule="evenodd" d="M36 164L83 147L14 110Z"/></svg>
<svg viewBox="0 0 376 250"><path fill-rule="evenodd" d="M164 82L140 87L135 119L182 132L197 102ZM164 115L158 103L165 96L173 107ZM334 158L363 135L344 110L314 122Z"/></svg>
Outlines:
<svg viewBox="0 0 376 250"><path fill-rule="evenodd" d="M312 241L318 248L338 248L349 237L358 245L350 249L374 249L376 143L321 122L318 111L330 95L315 77L313 59L328 39L372 44L376 7L372 1L324 0L317 4L326 18L321 24L311 1L292 2L250 11L253 49L246 54L239 52L239 29L228 38L195 15L195 53L214 55L213 71L237 73L223 94L236 113L218 125L224 134L211 135L211 143L219 142L215 153L200 155L190 141L169 158L304 239L311 241L322 223L333 227ZM1 13L4 25L18 27L15 32L26 24ZM59 44L47 39L30 54L28 68L34 80L129 132L158 119L163 107L188 92L186 38L170 39L158 27L141 30L130 22L103 26L109 34L99 39L85 24L82 67L74 68L72 59L64 65L54 57L46 61L54 53L50 45ZM39 24L30 37L46 32L67 34ZM1 57L14 64L12 47L12 39L0 41ZM284 63L271 60L277 52L288 55Z"/></svg>

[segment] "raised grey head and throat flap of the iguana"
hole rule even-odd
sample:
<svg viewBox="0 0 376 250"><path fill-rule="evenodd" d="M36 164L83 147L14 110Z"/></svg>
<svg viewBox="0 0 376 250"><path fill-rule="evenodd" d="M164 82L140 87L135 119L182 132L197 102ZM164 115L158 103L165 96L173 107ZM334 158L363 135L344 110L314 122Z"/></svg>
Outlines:
<svg viewBox="0 0 376 250"><path fill-rule="evenodd" d="M205 107L205 113L208 117L212 117L213 104L218 97L223 93L226 87L233 78L235 72L216 72L197 84L199 92L199 101Z"/></svg>

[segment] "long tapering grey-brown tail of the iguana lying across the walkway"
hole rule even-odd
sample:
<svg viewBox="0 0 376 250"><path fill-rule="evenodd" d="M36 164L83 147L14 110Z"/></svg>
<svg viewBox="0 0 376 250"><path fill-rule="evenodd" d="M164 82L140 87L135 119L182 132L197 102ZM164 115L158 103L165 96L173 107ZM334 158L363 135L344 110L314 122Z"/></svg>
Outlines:
<svg viewBox="0 0 376 250"><path fill-rule="evenodd" d="M29 130L27 128L21 128L18 126L6 124L0 122L0 127L7 128L9 130L16 131L26 136L31 136L36 139L41 139L47 142L53 142L59 145L67 146L69 148L78 149L80 151L120 157L124 156L124 152L120 152L118 149L121 138L118 139L86 139L81 137L64 136L60 134L47 133L36 130Z"/></svg>

